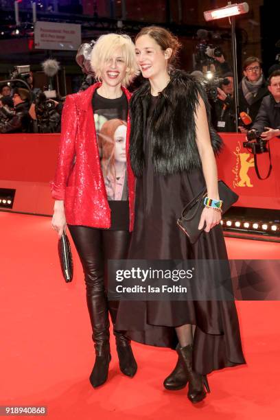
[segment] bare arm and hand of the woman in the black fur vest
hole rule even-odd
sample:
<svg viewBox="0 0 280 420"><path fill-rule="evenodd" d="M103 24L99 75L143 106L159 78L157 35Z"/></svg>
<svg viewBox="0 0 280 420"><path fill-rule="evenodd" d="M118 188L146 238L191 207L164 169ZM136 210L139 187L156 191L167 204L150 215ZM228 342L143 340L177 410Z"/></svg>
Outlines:
<svg viewBox="0 0 280 420"><path fill-rule="evenodd" d="M213 148L211 146L207 113L202 97L199 98L199 104L196 108L195 121L196 144L198 146L198 153L202 163L202 172L205 177L207 197L214 200L220 200L218 192L217 165L215 162ZM213 226L220 223L220 220L220 211L205 207L205 209L202 211L198 229L202 229L206 222L207 226L205 227L205 231L209 232Z"/></svg>

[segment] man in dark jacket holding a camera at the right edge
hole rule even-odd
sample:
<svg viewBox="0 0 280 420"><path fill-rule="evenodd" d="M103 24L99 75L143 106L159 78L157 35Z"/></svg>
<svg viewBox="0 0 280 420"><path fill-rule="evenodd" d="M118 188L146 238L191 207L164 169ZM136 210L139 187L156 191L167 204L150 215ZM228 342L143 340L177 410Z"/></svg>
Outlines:
<svg viewBox="0 0 280 420"><path fill-rule="evenodd" d="M270 95L262 100L252 127L252 130L261 132L261 138L264 140L280 137L280 70L270 74L268 91Z"/></svg>

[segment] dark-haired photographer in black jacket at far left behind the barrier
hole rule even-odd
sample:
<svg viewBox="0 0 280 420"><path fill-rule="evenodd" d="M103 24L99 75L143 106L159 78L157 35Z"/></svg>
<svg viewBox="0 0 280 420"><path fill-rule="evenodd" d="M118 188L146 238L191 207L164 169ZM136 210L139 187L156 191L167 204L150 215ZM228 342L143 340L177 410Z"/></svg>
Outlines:
<svg viewBox="0 0 280 420"><path fill-rule="evenodd" d="M0 121L0 132L30 132L31 118L29 115L30 93L27 89L16 88L12 101L14 102L14 115L10 119Z"/></svg>

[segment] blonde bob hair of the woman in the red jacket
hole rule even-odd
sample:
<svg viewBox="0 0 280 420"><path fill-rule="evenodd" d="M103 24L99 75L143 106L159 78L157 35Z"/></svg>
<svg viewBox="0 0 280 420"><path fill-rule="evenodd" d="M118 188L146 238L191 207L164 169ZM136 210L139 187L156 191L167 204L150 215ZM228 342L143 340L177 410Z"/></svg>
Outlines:
<svg viewBox="0 0 280 420"><path fill-rule="evenodd" d="M100 36L91 51L91 68L95 73L95 78L101 82L102 71L106 62L113 58L113 54L118 49L121 51L127 66L124 80L121 84L128 86L135 76L139 74L139 67L137 66L135 56L135 45L128 35L106 34Z"/></svg>

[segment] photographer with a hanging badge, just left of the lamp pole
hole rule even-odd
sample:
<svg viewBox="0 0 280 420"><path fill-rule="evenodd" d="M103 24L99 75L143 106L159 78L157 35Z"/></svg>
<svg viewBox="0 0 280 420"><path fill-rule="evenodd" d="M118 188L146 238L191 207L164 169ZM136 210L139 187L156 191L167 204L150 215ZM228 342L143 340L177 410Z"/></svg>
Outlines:
<svg viewBox="0 0 280 420"><path fill-rule="evenodd" d="M233 73L223 75L224 83L217 87L217 98L210 101L212 122L218 132L234 132Z"/></svg>

